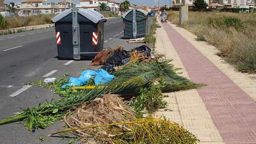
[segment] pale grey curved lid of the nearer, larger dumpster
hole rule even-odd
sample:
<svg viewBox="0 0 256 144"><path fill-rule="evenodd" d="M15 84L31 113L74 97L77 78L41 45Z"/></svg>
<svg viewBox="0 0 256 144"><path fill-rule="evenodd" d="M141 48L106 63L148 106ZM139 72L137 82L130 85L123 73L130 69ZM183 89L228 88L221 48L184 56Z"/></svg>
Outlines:
<svg viewBox="0 0 256 144"><path fill-rule="evenodd" d="M78 8L77 12L81 14L82 16L88 18L90 21L94 23L98 23L99 21L103 20L104 22L107 21L107 19L101 15L100 13L96 12L95 10L90 10L90 9L83 9L83 8ZM54 18L51 19L51 22L55 23L62 19L63 17L69 15L72 13L72 9L65 10L58 15L56 15Z"/></svg>

